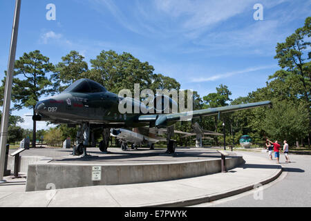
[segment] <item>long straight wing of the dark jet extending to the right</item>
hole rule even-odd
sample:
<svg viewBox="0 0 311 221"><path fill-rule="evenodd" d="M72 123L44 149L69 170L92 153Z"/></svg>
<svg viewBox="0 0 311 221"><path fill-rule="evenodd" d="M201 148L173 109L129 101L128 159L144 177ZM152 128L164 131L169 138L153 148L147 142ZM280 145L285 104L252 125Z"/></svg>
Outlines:
<svg viewBox="0 0 311 221"><path fill-rule="evenodd" d="M167 113L167 114L153 114L153 115L140 115L137 119L138 122L154 122L155 126L166 127L169 122L176 122L180 120L189 120L192 117L205 117L209 115L220 115L220 113L228 113L232 111L240 111L249 108L257 108L260 106L272 106L272 102L256 102L249 104L237 104L232 106L223 106L219 108L208 108L198 111L189 111L182 113Z"/></svg>

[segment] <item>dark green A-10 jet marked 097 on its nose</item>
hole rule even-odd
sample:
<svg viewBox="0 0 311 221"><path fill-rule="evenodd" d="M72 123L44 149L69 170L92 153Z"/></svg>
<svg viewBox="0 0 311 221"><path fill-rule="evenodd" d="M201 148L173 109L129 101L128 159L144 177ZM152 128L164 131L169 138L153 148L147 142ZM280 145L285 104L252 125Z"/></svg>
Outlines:
<svg viewBox="0 0 311 221"><path fill-rule="evenodd" d="M119 111L119 103L123 99L130 98L115 95L91 79L79 79L59 95L38 102L35 106L36 115L32 119L35 121L48 121L54 124L68 124L69 126L78 124L80 126L79 133L77 134L78 142L73 150L76 155L86 153L84 136L82 134L85 131L90 131L91 126L93 128L103 127L108 129L108 136L110 128L137 128L141 126L167 128L167 153L174 153L175 142L171 140L173 135L172 125L180 120L185 120L187 117L203 117L209 115L218 115L220 117L220 113L272 105L272 102L265 101L182 113L165 113L167 106L162 105L160 106L162 110L159 110L156 101L162 99L163 102L163 99L169 99L167 102L171 105L176 104L176 102L170 97L156 95L153 100L153 106L157 107L154 108L155 113L148 113L145 110L141 111L149 107L131 98L133 107L139 106L140 112L122 114ZM100 150L106 151L108 144L109 137L104 137L104 141L100 144Z"/></svg>

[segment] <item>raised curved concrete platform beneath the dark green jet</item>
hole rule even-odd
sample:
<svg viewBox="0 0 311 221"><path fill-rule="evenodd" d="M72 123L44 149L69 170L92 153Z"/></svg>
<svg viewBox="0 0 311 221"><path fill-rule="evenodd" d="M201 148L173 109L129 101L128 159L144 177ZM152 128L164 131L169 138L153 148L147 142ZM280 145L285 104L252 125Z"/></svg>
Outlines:
<svg viewBox="0 0 311 221"><path fill-rule="evenodd" d="M108 155L88 149L90 157L59 156L49 162L28 165L26 191L66 189L81 186L135 184L178 180L219 173L220 154L205 148L177 149L166 154L163 149L129 150L110 148ZM230 152L229 152L230 153ZM243 157L230 153L226 169L244 163Z"/></svg>

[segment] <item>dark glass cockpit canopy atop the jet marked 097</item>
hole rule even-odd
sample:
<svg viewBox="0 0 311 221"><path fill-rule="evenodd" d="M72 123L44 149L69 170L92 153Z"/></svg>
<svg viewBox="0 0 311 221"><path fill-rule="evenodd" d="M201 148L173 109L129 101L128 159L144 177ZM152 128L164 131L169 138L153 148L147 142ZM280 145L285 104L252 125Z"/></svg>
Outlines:
<svg viewBox="0 0 311 221"><path fill-rule="evenodd" d="M63 93L100 93L106 92L106 88L90 79L79 79L68 86Z"/></svg>

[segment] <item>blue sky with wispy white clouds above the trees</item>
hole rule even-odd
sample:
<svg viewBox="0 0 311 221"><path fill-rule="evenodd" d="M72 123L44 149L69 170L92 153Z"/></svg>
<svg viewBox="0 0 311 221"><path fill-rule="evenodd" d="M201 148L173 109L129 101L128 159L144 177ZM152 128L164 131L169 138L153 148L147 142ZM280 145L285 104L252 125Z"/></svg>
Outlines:
<svg viewBox="0 0 311 221"><path fill-rule="evenodd" d="M46 19L46 5L56 20ZM263 6L263 21L253 17ZM200 96L225 84L232 99L265 86L278 70L277 42L310 16L311 1L288 0L37 0L21 3L17 59L40 50L54 64L70 50L86 61L101 50L130 52L155 73L176 78ZM7 69L15 1L0 3L0 78ZM30 109L14 115L31 115ZM32 128L30 117L22 124ZM38 128L45 128L39 124Z"/></svg>

